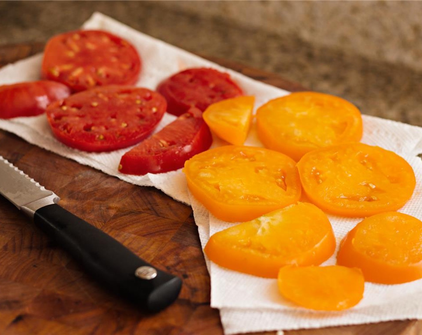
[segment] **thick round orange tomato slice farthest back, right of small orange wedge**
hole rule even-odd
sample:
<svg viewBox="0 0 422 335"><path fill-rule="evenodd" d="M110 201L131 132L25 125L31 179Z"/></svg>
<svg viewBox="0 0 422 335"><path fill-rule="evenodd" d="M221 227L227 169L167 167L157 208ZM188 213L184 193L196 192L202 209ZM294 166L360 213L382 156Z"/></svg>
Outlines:
<svg viewBox="0 0 422 335"><path fill-rule="evenodd" d="M360 141L362 116L337 96L297 92L258 108L257 133L265 147L298 161L320 147Z"/></svg>

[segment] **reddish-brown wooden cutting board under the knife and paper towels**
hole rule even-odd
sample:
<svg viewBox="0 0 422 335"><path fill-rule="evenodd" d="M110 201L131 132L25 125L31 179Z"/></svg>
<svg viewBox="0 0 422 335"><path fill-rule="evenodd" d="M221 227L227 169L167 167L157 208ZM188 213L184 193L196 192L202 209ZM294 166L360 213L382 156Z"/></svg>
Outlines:
<svg viewBox="0 0 422 335"><path fill-rule="evenodd" d="M42 48L43 43L0 46L0 66ZM211 60L288 91L304 89L268 72ZM218 310L210 307L210 279L189 206L160 190L123 182L5 131L0 131L0 155L57 193L62 207L183 279L179 299L172 306L158 314L139 311L92 281L60 246L0 197L1 334L223 333ZM417 333L422 333L422 323L416 320L286 332Z"/></svg>

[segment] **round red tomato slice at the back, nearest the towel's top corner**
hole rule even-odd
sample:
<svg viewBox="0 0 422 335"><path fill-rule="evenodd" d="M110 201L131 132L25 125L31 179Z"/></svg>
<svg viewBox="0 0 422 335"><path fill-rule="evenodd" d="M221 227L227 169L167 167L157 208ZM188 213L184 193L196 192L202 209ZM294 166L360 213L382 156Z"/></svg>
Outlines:
<svg viewBox="0 0 422 335"><path fill-rule="evenodd" d="M141 59L126 40L100 30L78 30L51 38L41 74L73 91L111 84L133 85Z"/></svg>

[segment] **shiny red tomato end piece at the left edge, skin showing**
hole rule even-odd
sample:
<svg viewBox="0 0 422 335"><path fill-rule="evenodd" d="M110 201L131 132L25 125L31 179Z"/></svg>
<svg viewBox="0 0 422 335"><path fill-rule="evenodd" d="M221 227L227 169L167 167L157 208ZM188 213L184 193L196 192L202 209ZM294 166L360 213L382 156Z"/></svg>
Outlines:
<svg viewBox="0 0 422 335"><path fill-rule="evenodd" d="M39 115L51 102L69 95L67 86L49 80L0 86L0 118Z"/></svg>

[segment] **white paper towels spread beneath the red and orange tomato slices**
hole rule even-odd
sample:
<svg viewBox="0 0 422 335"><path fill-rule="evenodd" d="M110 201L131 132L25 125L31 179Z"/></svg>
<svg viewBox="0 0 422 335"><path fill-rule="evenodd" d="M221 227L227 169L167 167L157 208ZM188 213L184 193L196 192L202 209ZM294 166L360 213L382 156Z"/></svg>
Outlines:
<svg viewBox="0 0 422 335"><path fill-rule="evenodd" d="M287 94L279 88L252 80L237 72L227 70L184 50L170 46L160 40L144 35L114 19L95 13L84 24L85 29L104 29L129 40L137 48L143 61L143 71L138 86L154 89L162 79L187 67L214 67L229 72L246 94L256 97L256 106L270 99ZM25 80L39 79L42 55L10 64L0 70L0 85ZM173 121L174 116L166 114L157 130ZM422 128L404 123L363 115L364 136L362 142L379 145L402 155L414 168L417 187L414 196L400 212L422 219L422 163L417 154L422 152ZM210 215L208 211L191 198L186 179L181 170L164 174L148 174L143 177L128 176L117 171L120 157L128 149L111 153L85 153L62 145L52 136L45 115L32 118L0 120L0 129L13 132L27 142L71 158L81 164L118 177L136 185L159 188L174 199L191 204L198 226L202 245L210 233L228 227ZM215 139L213 146L223 142ZM249 134L247 145L262 146L254 129ZM359 219L345 219L330 216L337 241L359 222ZM332 264L334 256L326 264ZM364 299L348 311L325 313L297 308L277 292L275 279L262 279L236 273L208 262L211 275L211 306L220 309L220 316L226 334L263 330L288 330L299 328L326 327L344 324L360 324L394 319L421 318L422 281L400 285L365 284Z"/></svg>

